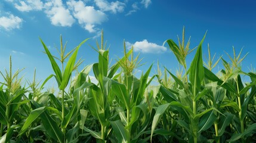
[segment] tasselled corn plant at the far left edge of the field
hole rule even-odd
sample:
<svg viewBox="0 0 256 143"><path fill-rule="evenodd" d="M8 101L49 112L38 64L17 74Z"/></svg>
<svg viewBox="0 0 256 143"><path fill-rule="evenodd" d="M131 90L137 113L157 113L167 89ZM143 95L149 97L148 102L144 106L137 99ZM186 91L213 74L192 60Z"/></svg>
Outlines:
<svg viewBox="0 0 256 143"><path fill-rule="evenodd" d="M22 71L17 70L14 74L12 71L12 61L10 56L10 70L5 69L5 75L0 71L5 82L0 87L0 136L1 142L13 140L17 135L17 128L20 128L20 122L27 116L27 108L22 108L27 100L23 100L26 88L21 87L21 78L18 74ZM26 99L26 98L24 98ZM22 111L23 110L23 111ZM20 114L20 116L17 116Z"/></svg>

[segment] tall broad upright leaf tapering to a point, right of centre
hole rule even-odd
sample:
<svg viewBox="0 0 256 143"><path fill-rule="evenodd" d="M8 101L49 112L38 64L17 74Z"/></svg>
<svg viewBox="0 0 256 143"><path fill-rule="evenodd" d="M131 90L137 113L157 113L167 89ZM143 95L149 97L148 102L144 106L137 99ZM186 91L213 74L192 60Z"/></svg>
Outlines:
<svg viewBox="0 0 256 143"><path fill-rule="evenodd" d="M206 33L205 33L206 36ZM200 91L201 82L203 81L204 71L203 71L203 59L202 59L202 43L205 39L203 36L202 41L199 43L198 50L196 51L196 55L193 58L193 61L190 65L189 69L189 80L193 86L193 96L196 96L196 92Z"/></svg>

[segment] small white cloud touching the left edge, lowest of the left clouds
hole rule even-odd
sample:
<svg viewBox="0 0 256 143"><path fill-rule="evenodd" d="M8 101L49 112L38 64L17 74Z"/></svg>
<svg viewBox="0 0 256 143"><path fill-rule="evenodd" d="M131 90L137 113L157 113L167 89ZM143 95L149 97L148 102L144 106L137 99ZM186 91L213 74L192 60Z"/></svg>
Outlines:
<svg viewBox="0 0 256 143"><path fill-rule="evenodd" d="M0 17L0 28L5 30L20 29L22 24L22 19L20 17L14 16L13 14L8 14L8 17Z"/></svg>

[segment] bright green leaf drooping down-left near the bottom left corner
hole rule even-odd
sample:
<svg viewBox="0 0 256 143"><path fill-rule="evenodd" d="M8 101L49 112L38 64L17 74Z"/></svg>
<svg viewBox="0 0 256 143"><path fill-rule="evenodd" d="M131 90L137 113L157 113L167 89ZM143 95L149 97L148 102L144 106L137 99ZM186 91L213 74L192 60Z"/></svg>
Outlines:
<svg viewBox="0 0 256 143"><path fill-rule="evenodd" d="M27 117L26 122L24 123L23 127L21 128L18 136L22 135L26 132L27 128L36 120L38 117L45 111L45 107L36 108L35 110L31 111L29 117Z"/></svg>

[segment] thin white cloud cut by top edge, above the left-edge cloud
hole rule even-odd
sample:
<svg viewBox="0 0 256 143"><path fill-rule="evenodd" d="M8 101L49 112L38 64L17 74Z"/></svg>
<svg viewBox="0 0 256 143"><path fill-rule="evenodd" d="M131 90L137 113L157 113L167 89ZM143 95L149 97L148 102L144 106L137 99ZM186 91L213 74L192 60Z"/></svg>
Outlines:
<svg viewBox="0 0 256 143"><path fill-rule="evenodd" d="M20 5L14 4L14 6L19 11L32 11L32 10L42 10L43 3L41 0L26 0L26 1L19 1Z"/></svg>

